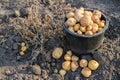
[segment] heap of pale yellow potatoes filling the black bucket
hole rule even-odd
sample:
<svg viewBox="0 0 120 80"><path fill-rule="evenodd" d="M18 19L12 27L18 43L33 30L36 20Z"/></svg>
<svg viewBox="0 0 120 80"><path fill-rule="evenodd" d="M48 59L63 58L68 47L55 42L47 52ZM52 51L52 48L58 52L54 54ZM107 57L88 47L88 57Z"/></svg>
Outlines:
<svg viewBox="0 0 120 80"><path fill-rule="evenodd" d="M99 10L88 11L83 7L75 12L66 14L66 26L71 32L79 35L93 35L100 32L105 26L105 20L101 20L102 13Z"/></svg>

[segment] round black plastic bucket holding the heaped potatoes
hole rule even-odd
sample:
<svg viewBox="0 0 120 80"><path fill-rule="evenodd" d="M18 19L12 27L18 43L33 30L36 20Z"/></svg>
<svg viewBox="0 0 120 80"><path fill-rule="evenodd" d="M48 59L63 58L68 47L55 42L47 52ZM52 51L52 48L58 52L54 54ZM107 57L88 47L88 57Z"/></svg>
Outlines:
<svg viewBox="0 0 120 80"><path fill-rule="evenodd" d="M63 28L66 32L67 42L70 49L77 55L92 53L103 44L104 33L108 29L109 25L109 21L103 13L101 20L105 20L105 27L99 33L94 35L78 35L69 31L65 25L66 20L67 18L65 17L63 19Z"/></svg>

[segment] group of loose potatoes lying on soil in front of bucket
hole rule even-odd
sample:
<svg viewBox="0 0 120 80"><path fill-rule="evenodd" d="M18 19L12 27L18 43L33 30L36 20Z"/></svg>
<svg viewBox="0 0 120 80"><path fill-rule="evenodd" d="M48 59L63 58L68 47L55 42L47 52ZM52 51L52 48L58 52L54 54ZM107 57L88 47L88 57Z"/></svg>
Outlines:
<svg viewBox="0 0 120 80"><path fill-rule="evenodd" d="M52 57L56 60L60 59L63 55L63 49L57 47L52 52ZM73 55L69 50L64 55L64 62L61 64L62 69L59 71L61 76L65 76L67 71L76 71L79 67L82 68L81 74L84 77L90 77L92 70L96 70L99 67L99 63L96 60L87 61L86 59L79 59L78 56Z"/></svg>

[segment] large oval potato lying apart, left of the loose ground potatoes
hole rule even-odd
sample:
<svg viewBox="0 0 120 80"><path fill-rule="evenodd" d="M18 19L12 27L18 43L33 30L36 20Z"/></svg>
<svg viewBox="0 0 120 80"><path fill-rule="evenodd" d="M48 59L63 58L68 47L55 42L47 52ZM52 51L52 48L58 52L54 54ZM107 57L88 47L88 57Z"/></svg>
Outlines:
<svg viewBox="0 0 120 80"><path fill-rule="evenodd" d="M57 47L52 52L52 57L55 58L55 59L60 59L62 54L63 54L63 49L60 48L60 47Z"/></svg>

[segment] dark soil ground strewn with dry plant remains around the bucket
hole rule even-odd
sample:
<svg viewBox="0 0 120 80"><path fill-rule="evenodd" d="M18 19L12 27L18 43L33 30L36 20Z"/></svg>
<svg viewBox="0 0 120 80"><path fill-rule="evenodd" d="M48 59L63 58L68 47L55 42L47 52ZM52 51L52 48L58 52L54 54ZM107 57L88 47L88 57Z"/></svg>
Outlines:
<svg viewBox="0 0 120 80"><path fill-rule="evenodd" d="M97 60L100 67L89 78L81 68L61 77L63 57L55 60L51 53L55 47L68 50L62 19L80 6L101 10L109 20L103 45L92 56L79 56ZM0 80L119 80L119 36L119 0L0 0ZM27 46L24 56L21 42Z"/></svg>

